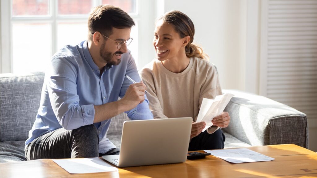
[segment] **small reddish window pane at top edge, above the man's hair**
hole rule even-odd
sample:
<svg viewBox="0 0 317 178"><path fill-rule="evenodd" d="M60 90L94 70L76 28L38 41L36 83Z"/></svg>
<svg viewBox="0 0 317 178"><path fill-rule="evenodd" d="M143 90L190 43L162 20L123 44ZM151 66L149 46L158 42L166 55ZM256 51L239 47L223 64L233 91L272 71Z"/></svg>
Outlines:
<svg viewBox="0 0 317 178"><path fill-rule="evenodd" d="M111 4L120 7L127 13L137 13L136 1L137 0L102 0L102 4Z"/></svg>

